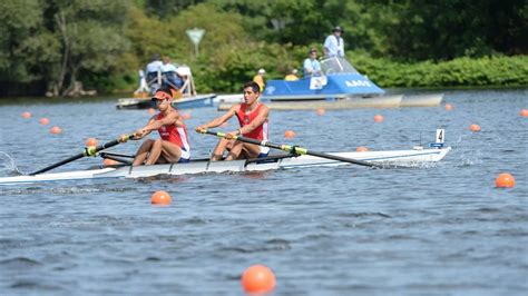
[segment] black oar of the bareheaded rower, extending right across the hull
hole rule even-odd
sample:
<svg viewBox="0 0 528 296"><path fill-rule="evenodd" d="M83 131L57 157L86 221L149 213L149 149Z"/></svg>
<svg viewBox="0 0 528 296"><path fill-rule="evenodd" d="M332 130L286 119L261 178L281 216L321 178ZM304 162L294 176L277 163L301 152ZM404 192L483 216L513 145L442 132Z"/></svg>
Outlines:
<svg viewBox="0 0 528 296"><path fill-rule="evenodd" d="M201 131L201 134L208 134L208 135L213 135L213 136L216 136L216 137L219 137L219 138L226 138L226 134L221 132L221 131L215 132L215 131L209 131L209 130L204 129L204 130ZM338 160L338 161L343 161L343 162L349 162L349 164L354 164L354 165L360 165L360 166L365 166L365 167L383 168L383 166L381 166L379 164L372 164L372 162L358 160L358 159L352 159L352 158L348 158L348 157L329 155L329 154L324 154L324 152L317 152L317 151L309 150L306 148L302 148L302 147L297 147L297 146L278 145L278 144L273 144L273 142L268 142L268 141L260 141L260 140L255 140L255 139L246 138L246 137L242 137L242 136L234 136L233 139L238 140L238 141L248 142L248 144L265 146L265 147L270 147L270 148L274 148L274 149L280 149L280 150L284 150L286 152L296 154L296 155L311 155L311 156L327 158L327 159L332 159L332 160Z"/></svg>

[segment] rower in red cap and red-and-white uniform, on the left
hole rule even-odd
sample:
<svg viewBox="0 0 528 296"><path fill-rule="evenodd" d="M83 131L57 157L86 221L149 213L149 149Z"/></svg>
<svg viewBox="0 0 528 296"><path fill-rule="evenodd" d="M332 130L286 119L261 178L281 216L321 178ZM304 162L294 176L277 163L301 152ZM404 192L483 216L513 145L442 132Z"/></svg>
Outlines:
<svg viewBox="0 0 528 296"><path fill-rule="evenodd" d="M170 89L162 88L153 97L159 114L153 116L148 124L134 132L134 140L143 139L153 130L159 132L160 139L147 139L139 147L133 166L188 162L190 145L187 128L176 109L170 105Z"/></svg>

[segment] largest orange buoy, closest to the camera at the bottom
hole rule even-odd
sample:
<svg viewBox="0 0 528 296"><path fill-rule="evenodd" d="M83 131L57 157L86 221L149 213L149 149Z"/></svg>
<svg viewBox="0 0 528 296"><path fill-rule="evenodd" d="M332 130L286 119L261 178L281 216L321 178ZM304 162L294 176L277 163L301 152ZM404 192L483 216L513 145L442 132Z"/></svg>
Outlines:
<svg viewBox="0 0 528 296"><path fill-rule="evenodd" d="M242 275L242 287L247 293L267 293L275 288L275 275L264 265L250 266Z"/></svg>

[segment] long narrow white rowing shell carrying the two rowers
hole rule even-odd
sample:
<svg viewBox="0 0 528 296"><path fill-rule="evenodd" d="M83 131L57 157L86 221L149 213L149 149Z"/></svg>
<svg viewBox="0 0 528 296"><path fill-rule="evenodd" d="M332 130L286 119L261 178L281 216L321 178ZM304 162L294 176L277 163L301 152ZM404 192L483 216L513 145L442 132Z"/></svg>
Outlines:
<svg viewBox="0 0 528 296"><path fill-rule="evenodd" d="M409 150L365 151L365 152L335 152L331 156L356 159L381 164L383 167L415 167L428 162L440 161L450 150L447 148L423 149L415 147ZM292 169L305 167L341 166L350 165L329 158L311 155L283 154L258 159L209 161L208 159L192 160L186 164L168 164L154 166L115 166L98 167L78 171L65 171L52 174L37 174L30 176L14 176L0 178L0 185L20 185L40 181L81 180L100 178L143 178L159 175L188 175L207 172L244 172L263 171L274 169Z"/></svg>

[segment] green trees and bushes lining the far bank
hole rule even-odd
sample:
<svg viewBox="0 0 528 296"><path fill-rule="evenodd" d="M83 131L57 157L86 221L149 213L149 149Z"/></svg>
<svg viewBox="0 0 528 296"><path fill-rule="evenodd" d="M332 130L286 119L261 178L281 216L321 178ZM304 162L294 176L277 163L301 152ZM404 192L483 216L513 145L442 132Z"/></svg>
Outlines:
<svg viewBox="0 0 528 296"><path fill-rule="evenodd" d="M338 24L349 59L382 87L526 86L527 11L521 0L3 0L1 95L62 96L76 81L129 91L153 53L188 65L198 91L238 91L258 68L299 69ZM190 28L206 30L197 57Z"/></svg>

